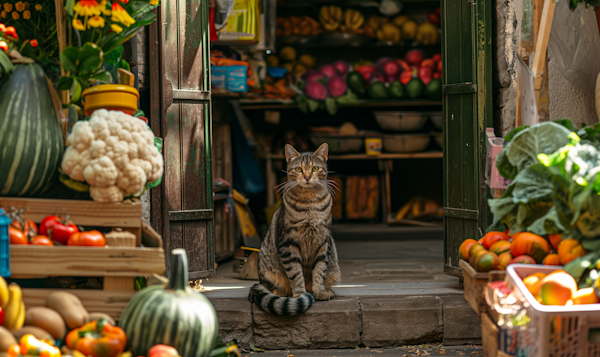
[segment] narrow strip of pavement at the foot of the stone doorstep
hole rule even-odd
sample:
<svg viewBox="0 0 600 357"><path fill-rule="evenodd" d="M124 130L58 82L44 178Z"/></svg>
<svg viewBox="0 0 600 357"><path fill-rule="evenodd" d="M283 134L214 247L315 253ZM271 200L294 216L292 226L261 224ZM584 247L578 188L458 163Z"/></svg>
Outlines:
<svg viewBox="0 0 600 357"><path fill-rule="evenodd" d="M242 356L255 355L264 357L379 357L379 356L483 356L481 346L404 346L390 348L356 348L336 350L289 350L268 351L265 353L248 352Z"/></svg>

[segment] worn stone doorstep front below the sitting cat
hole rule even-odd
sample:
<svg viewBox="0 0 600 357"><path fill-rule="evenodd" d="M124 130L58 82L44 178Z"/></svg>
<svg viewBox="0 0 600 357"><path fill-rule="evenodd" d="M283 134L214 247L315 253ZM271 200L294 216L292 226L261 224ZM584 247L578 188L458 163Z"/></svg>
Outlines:
<svg viewBox="0 0 600 357"><path fill-rule="evenodd" d="M224 342L265 350L481 343L479 318L463 295L341 296L304 314L274 316L245 298L208 296Z"/></svg>

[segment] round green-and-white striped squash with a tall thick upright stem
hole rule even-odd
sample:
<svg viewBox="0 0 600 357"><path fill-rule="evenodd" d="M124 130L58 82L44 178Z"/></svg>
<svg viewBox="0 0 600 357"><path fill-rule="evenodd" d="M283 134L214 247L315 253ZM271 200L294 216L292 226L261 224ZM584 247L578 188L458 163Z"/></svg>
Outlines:
<svg viewBox="0 0 600 357"><path fill-rule="evenodd" d="M121 319L127 351L147 356L154 345L175 347L184 357L207 357L216 342L219 324L208 299L188 285L184 249L171 252L171 275L166 287L149 286L131 298Z"/></svg>

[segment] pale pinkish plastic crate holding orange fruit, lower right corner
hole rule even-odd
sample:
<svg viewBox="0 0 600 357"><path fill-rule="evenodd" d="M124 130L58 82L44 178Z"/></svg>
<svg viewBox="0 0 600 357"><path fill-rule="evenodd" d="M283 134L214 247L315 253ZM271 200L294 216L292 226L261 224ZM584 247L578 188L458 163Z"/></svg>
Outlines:
<svg viewBox="0 0 600 357"><path fill-rule="evenodd" d="M516 297L526 300L526 314L530 319L517 333L517 357L600 357L600 304L542 305L521 278L559 269L529 264L512 264L506 268L510 286L518 288Z"/></svg>

